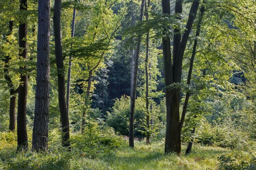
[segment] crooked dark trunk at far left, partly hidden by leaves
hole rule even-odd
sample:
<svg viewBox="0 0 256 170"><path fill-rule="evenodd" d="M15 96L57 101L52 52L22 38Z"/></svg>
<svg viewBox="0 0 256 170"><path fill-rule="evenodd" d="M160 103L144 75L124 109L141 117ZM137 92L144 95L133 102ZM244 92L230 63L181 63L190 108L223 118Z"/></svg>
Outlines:
<svg viewBox="0 0 256 170"><path fill-rule="evenodd" d="M13 21L9 21L9 32L7 34L7 37L9 35L12 34L12 28L13 28ZM7 38L6 42L8 43L9 40ZM10 42L9 42L10 43ZM9 110L9 118L10 118L10 121L9 121L9 130L10 131L14 131L15 130L15 122L16 122L16 119L15 119L15 106L16 106L16 94L17 94L17 90L15 90L14 88L14 85L12 83L12 79L11 77L9 76L9 61L10 61L11 57L9 55L7 55L3 61L5 62L5 65L4 65L4 69L3 69L3 72L4 72L4 78L7 82L7 85L10 89L10 110Z"/></svg>

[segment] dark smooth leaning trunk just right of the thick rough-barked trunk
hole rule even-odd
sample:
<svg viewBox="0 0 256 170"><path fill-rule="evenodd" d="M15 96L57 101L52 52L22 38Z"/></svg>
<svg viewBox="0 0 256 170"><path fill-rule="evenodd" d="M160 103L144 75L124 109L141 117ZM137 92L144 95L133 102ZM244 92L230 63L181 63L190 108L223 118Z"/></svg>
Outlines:
<svg viewBox="0 0 256 170"><path fill-rule="evenodd" d="M61 0L54 1L53 28L55 37L55 59L58 69L58 102L61 112L62 144L70 149L70 127L65 97L65 74L62 55Z"/></svg>

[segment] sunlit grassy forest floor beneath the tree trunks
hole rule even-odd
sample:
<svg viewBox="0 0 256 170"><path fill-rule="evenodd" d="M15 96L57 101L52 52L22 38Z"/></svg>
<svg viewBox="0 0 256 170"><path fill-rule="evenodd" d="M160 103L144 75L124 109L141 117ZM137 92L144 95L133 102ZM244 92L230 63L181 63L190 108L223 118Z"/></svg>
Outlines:
<svg viewBox="0 0 256 170"><path fill-rule="evenodd" d="M164 141L145 144L135 141L135 147L122 145L116 149L93 150L90 156L77 152L67 152L60 147L47 153L31 151L16 153L16 141L0 146L0 169L3 170L217 170L218 157L230 153L230 149L195 144L192 153L164 154Z"/></svg>

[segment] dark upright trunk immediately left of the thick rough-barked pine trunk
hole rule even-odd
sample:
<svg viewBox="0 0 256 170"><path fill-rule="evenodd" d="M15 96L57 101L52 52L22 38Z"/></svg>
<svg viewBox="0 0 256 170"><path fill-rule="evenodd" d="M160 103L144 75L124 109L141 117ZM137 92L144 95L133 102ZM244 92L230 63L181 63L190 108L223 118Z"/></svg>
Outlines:
<svg viewBox="0 0 256 170"><path fill-rule="evenodd" d="M27 10L27 0L20 0L20 11ZM19 51L20 59L27 60L27 24L26 21L19 25ZM27 65L20 66L20 86L18 96L17 112L17 150L28 149L28 136L26 130L26 101L28 94L28 76L26 73Z"/></svg>

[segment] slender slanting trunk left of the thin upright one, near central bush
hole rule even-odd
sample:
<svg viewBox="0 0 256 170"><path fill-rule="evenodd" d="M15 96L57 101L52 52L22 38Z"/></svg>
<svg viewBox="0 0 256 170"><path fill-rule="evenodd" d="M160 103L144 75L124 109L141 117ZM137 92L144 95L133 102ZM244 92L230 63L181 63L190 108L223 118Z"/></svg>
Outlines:
<svg viewBox="0 0 256 170"><path fill-rule="evenodd" d="M144 0L141 0L141 8L140 8L140 21L143 20L143 11L144 11ZM135 67L134 67L134 81L133 88L131 94L131 112L129 119L129 146L134 147L134 112L135 112L135 99L136 99L136 88L137 88L137 75L139 68L139 57L140 57L140 43L141 43L142 34L138 34L137 40L137 48L136 48L136 56L135 56Z"/></svg>

